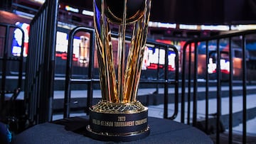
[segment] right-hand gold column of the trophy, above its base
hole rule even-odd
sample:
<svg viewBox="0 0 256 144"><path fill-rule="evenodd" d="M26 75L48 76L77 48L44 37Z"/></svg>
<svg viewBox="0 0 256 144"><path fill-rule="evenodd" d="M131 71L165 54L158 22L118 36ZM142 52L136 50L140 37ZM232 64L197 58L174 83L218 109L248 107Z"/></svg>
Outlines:
<svg viewBox="0 0 256 144"><path fill-rule="evenodd" d="M147 2L147 1L146 1ZM150 2L145 9L150 11ZM147 28L149 23L149 11L146 11L143 18L134 23L131 48L127 60L127 68L124 82L124 96L129 101L136 101L139 78L142 70L142 60L146 44Z"/></svg>

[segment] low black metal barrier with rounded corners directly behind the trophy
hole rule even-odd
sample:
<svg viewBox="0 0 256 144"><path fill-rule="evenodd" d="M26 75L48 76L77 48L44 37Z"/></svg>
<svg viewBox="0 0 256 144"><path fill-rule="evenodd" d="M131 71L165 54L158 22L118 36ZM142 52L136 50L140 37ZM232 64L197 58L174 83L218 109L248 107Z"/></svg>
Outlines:
<svg viewBox="0 0 256 144"><path fill-rule="evenodd" d="M72 76L72 62L73 62L73 37L75 33L78 33L80 31L85 31L90 33L90 63L89 63L89 72L88 77L86 79L81 78L73 78ZM70 116L70 91L71 91L71 84L87 84L87 106L85 111L88 113L90 106L92 106L92 90L93 85L95 83L99 84L100 79L99 77L95 77L93 75L93 71L95 70L94 67L94 56L95 56L95 34L94 31L90 28L84 28L84 27L77 27L74 28L73 31L70 31L70 37L68 40L68 57L67 57L67 66L66 66L66 76L65 76L65 102L64 102L64 118L67 118ZM117 34L112 34L113 38L117 38ZM130 40L131 38L127 37L127 40ZM165 55L164 55L164 79L159 79L159 77L156 77L156 79L140 79L140 83L144 84L164 84L164 118L174 119L176 118L176 115L178 113L178 50L174 45L166 45L163 43L156 43L153 41L147 40L146 45L154 45L154 48L161 48L164 49ZM174 51L176 57L175 57L175 77L174 79L170 79L168 77L169 75L169 51ZM159 65L159 63L158 63ZM159 76L159 71L157 76ZM175 108L174 113L171 117L168 117L168 101L169 101L169 85L174 85L174 101L175 101Z"/></svg>

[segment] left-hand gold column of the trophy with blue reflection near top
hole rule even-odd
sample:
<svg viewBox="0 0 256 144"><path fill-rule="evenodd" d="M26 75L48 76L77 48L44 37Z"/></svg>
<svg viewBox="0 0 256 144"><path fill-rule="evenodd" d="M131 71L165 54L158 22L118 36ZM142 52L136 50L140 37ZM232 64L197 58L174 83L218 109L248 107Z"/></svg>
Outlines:
<svg viewBox="0 0 256 144"><path fill-rule="evenodd" d="M112 43L109 23L104 15L104 5L101 4L101 12L95 4L98 12L94 17L96 29L97 55L100 71L100 87L102 89L102 101L119 101L117 97L117 82L114 73Z"/></svg>

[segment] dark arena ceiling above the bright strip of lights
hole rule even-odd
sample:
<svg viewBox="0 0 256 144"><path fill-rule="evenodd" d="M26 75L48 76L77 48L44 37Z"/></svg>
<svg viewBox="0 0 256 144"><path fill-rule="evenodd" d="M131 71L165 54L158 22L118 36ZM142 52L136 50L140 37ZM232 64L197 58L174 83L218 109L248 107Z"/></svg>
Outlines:
<svg viewBox="0 0 256 144"><path fill-rule="evenodd" d="M12 0L14 9L35 13L43 0ZM0 0L10 5L10 0ZM60 3L92 11L92 0L60 0ZM0 5L0 7L1 7ZM151 21L183 24L256 23L256 0L152 0Z"/></svg>

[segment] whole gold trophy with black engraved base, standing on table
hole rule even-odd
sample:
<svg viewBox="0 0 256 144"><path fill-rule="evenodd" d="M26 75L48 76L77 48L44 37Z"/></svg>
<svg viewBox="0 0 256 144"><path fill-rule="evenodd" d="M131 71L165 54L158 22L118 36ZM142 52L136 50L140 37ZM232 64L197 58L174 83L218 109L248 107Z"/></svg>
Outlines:
<svg viewBox="0 0 256 144"><path fill-rule="evenodd" d="M137 101L137 91L150 7L151 0L93 1L102 100L90 108L87 132L91 138L132 141L149 135L148 109ZM117 71L110 24L119 29ZM127 26L133 28L128 55L125 53Z"/></svg>

